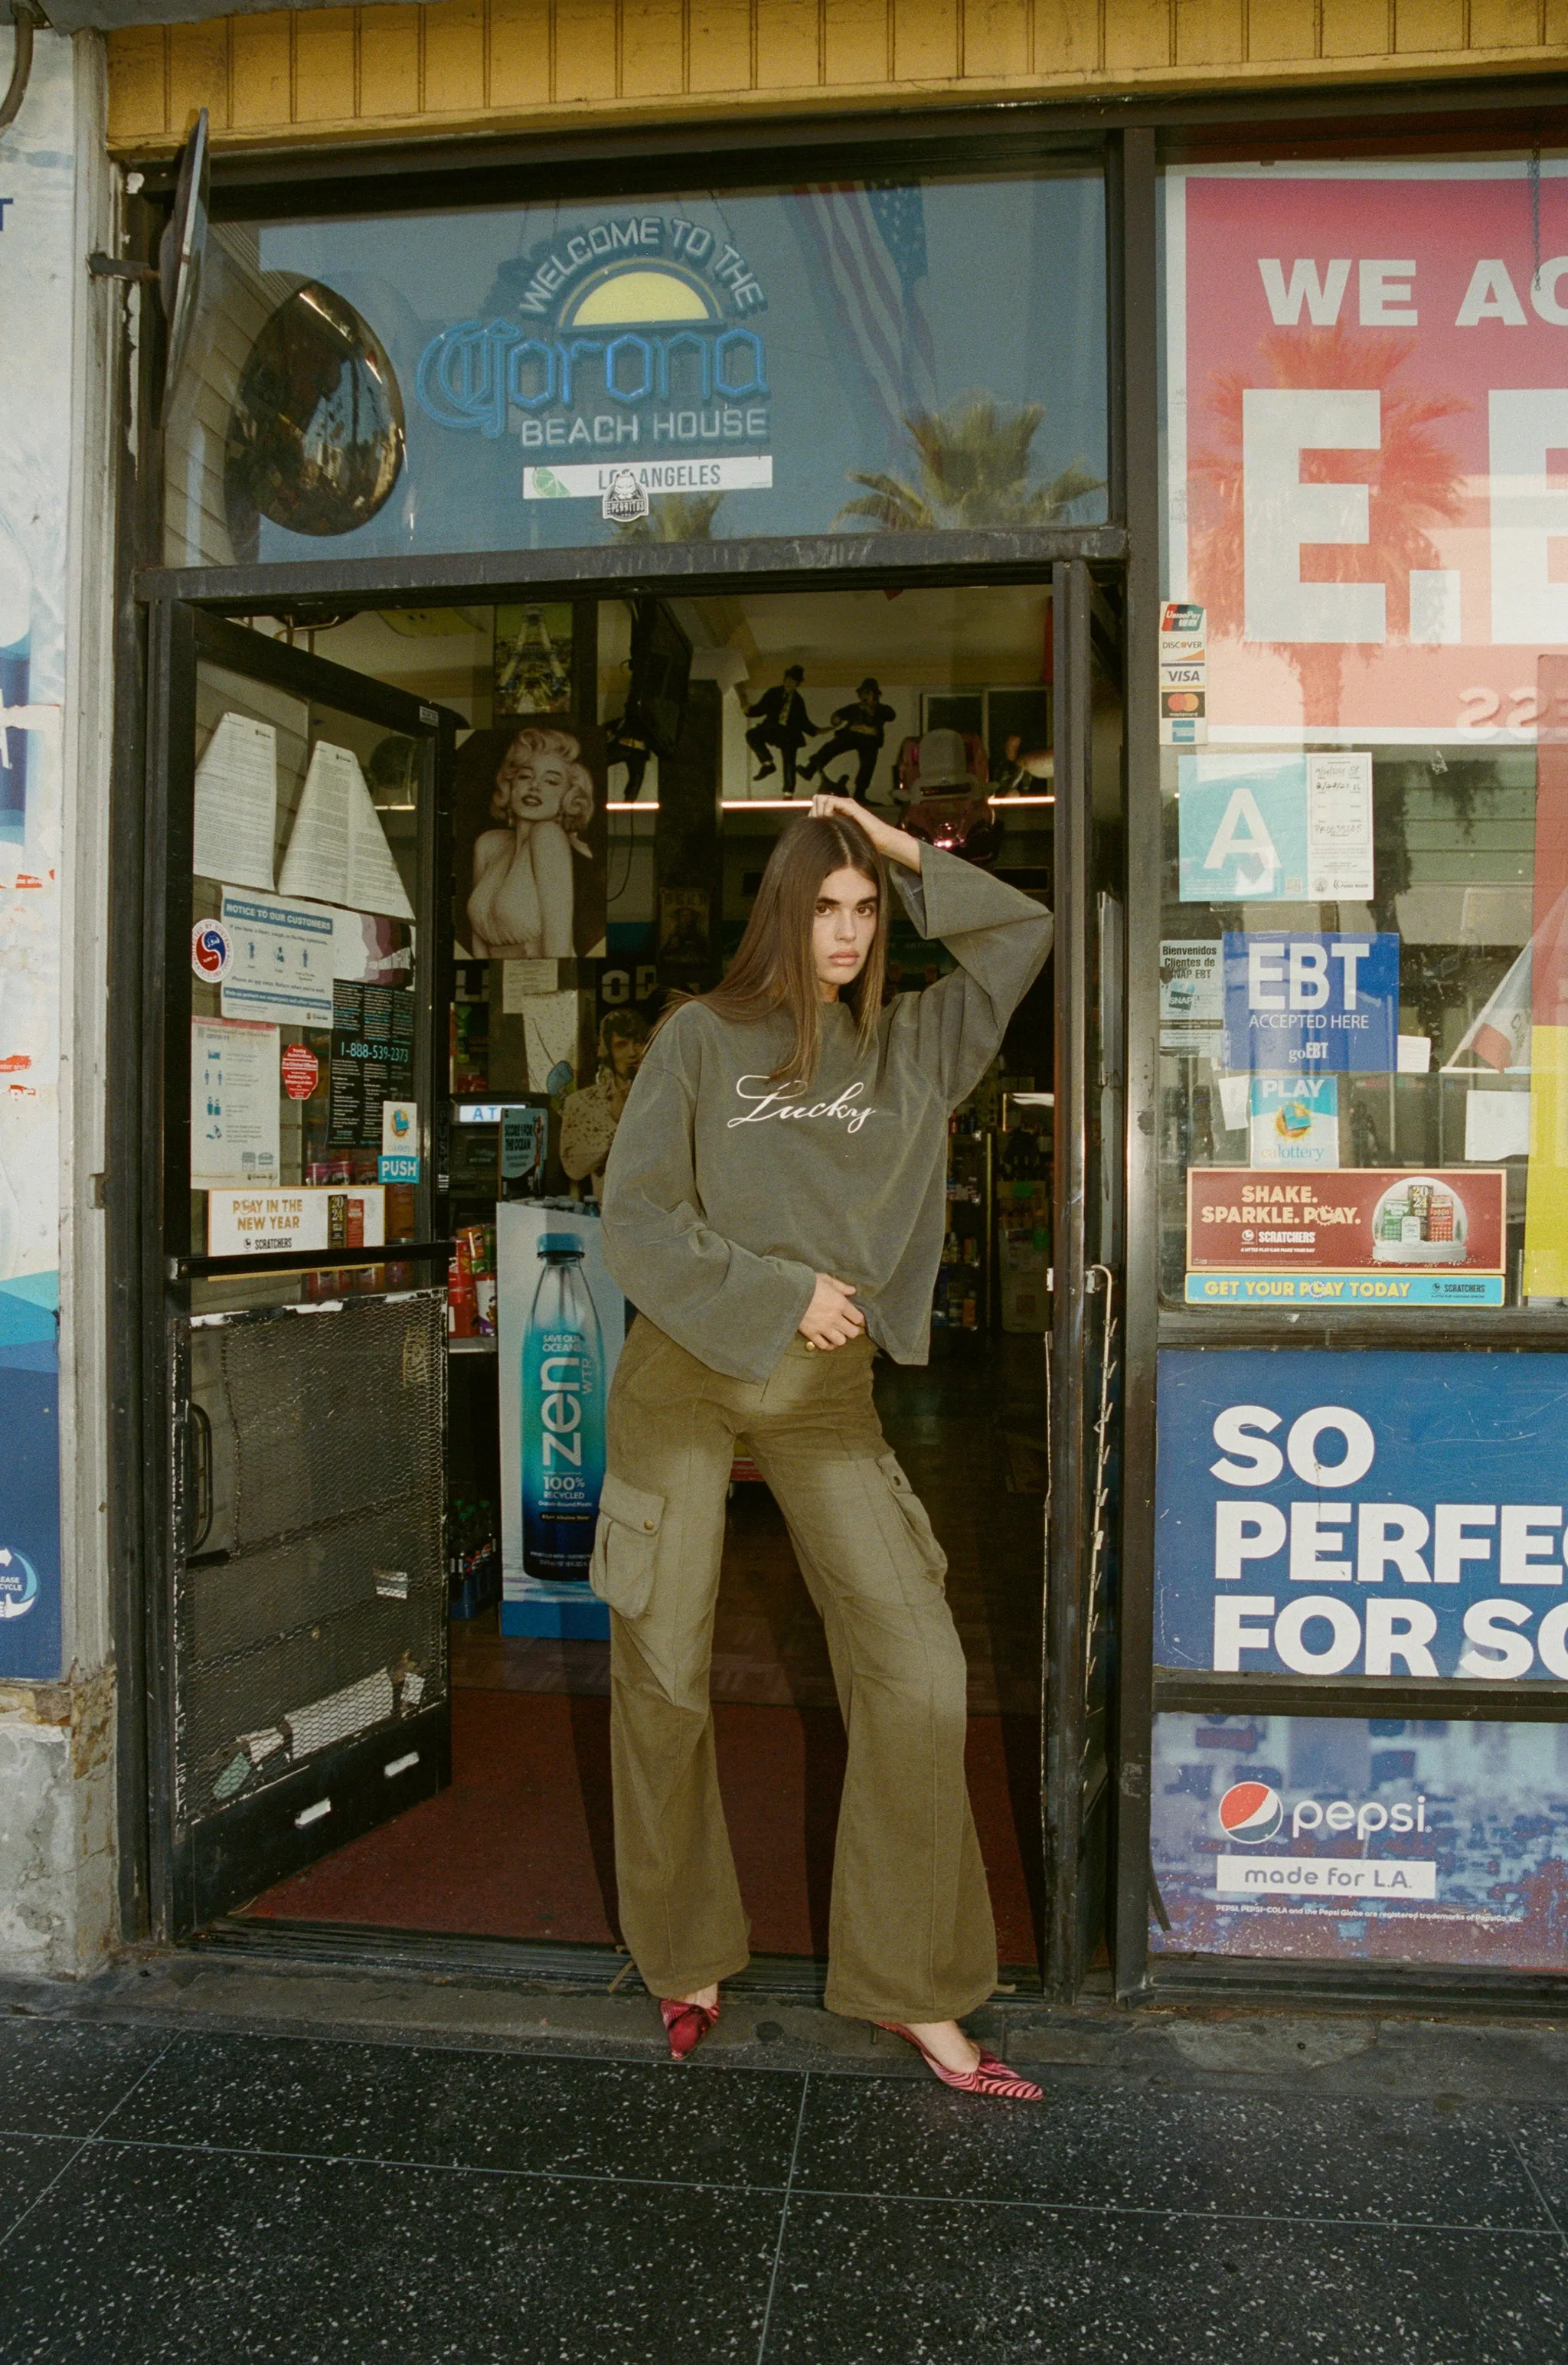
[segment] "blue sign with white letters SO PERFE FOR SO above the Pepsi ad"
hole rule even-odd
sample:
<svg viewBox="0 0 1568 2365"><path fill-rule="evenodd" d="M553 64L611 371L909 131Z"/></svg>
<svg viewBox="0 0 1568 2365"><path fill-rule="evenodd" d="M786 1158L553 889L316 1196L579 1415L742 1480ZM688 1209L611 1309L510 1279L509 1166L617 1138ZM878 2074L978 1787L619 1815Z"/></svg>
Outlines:
<svg viewBox="0 0 1568 2365"><path fill-rule="evenodd" d="M1159 1358L1156 1663L1568 1682L1568 1355Z"/></svg>

